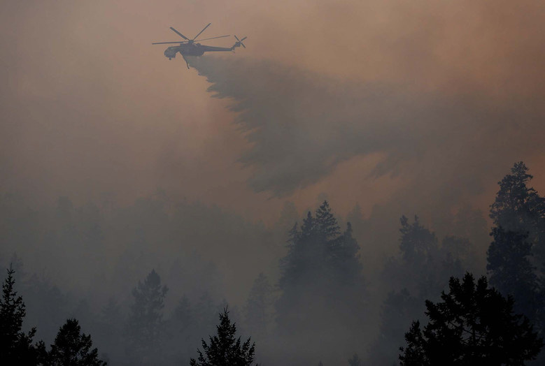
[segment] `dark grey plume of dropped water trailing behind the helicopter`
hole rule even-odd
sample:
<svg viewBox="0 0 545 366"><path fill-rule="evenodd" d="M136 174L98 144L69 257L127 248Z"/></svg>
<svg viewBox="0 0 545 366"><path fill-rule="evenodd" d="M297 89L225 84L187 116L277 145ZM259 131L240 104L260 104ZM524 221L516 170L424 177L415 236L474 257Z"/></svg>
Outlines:
<svg viewBox="0 0 545 366"><path fill-rule="evenodd" d="M287 195L341 161L380 154L373 175L403 175L423 189L419 198L452 204L482 193L514 160L542 153L545 111L535 98L341 82L270 61L192 64L239 113L250 142L240 161L253 171L255 191Z"/></svg>

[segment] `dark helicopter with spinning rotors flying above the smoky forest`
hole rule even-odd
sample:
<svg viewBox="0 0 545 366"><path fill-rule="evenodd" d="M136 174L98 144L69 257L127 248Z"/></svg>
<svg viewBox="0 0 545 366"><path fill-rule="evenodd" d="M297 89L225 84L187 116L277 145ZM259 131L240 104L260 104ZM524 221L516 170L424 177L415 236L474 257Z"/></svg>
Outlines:
<svg viewBox="0 0 545 366"><path fill-rule="evenodd" d="M239 37L234 36L236 38L236 42L231 47L215 47L215 46L208 46L208 45L201 45L201 41L208 41L215 38L224 38L224 37L230 37L230 34L227 34L227 36L218 36L218 37L212 37L212 38L204 38L197 40L197 37L199 37L202 32L206 30L206 28L210 27L212 23L208 23L206 27L204 27L201 31L199 31L199 34L197 36L194 36L192 39L187 38L183 34L181 34L179 31L174 29L173 27L170 27L174 33L178 34L178 36L181 36L185 41L174 41L174 42L155 42L152 43L152 45L165 45L167 43L179 43L177 46L170 46L167 48L167 50L164 50L164 56L168 57L169 60L174 59L176 57L176 53L180 52L180 54L183 57L183 60L185 61L185 64L187 65L187 68L189 68L189 62L185 58L186 56L202 56L204 52L221 52L221 51L234 51L236 47L244 47L244 41L248 37L244 37L242 39L239 39Z"/></svg>

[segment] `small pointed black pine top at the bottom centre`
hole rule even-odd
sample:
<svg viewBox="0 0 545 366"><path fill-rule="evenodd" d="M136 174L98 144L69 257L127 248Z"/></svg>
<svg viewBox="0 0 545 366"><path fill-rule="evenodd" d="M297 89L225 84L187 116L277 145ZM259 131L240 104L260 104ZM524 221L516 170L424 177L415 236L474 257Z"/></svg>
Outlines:
<svg viewBox="0 0 545 366"><path fill-rule="evenodd" d="M235 338L236 325L229 320L227 308L220 313L218 334L210 337L209 344L201 339L202 349L197 349L199 357L190 360L191 366L250 366L253 363L255 344L250 338L241 344L241 337Z"/></svg>

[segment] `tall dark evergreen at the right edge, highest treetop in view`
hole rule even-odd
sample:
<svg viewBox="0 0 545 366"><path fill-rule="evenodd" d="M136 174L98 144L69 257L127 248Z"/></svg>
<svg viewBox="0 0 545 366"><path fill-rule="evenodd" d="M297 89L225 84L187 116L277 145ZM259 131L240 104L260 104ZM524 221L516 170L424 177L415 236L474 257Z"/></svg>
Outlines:
<svg viewBox="0 0 545 366"><path fill-rule="evenodd" d="M500 190L490 206L495 227L486 269L490 284L512 295L516 310L544 331L545 198L528 187L530 180L532 175L521 161L499 182Z"/></svg>

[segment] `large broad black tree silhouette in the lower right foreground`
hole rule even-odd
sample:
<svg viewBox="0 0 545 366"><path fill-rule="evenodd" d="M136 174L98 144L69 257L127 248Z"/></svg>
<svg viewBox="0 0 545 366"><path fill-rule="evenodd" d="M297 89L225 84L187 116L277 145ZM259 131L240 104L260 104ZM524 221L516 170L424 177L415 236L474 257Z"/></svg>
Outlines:
<svg viewBox="0 0 545 366"><path fill-rule="evenodd" d="M486 277L451 277L442 302L426 301L430 322L414 321L401 348L401 365L524 365L543 340L528 318L513 314L513 299L489 288Z"/></svg>

